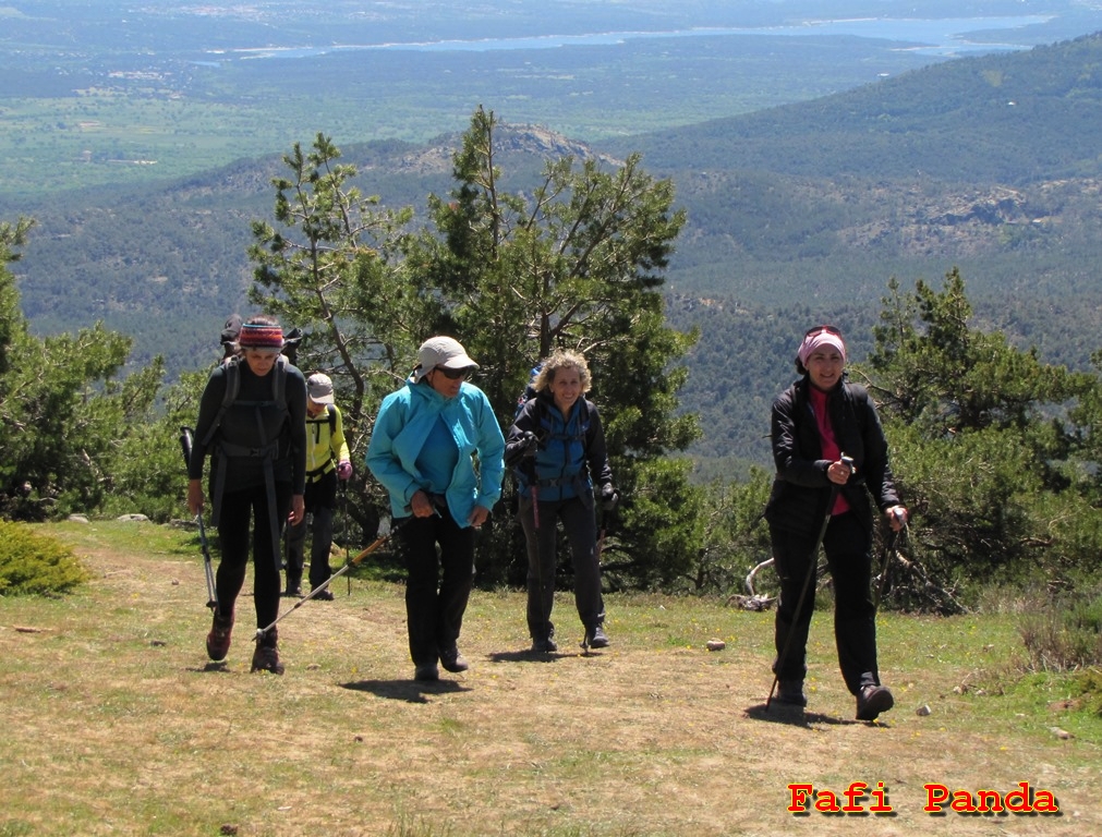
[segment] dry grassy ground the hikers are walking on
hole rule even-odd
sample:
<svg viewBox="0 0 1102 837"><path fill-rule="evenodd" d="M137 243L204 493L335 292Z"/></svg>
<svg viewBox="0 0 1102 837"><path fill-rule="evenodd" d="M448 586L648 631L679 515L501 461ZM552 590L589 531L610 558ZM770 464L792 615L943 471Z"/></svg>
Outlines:
<svg viewBox="0 0 1102 837"><path fill-rule="evenodd" d="M563 651L540 660L525 652L522 597L477 593L471 671L422 685L401 588L355 581L346 596L341 579L336 601L281 623L276 677L249 674L249 598L227 666L207 665L187 536L48 531L95 580L62 600L0 599L3 836L1102 833L1096 726L953 692L1014 653L1009 618L883 618L897 707L879 725L853 720L829 615L813 626L808 713L766 714L771 616L649 596L611 598L614 644L588 656L566 642L580 629L561 597ZM726 650L706 651L712 638ZM787 811L789 783L855 781L884 782L895 814ZM1056 794L1061 816L922 812L926 783L1020 781Z"/></svg>

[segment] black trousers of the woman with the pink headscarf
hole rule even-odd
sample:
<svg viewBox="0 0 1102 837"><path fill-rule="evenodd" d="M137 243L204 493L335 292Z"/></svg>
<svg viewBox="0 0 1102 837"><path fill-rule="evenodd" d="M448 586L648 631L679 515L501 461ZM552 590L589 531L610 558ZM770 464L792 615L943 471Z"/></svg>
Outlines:
<svg viewBox="0 0 1102 837"><path fill-rule="evenodd" d="M810 587L800 612L796 605L807 578L811 554L819 532L791 532L769 528L773 557L780 576L780 604L777 607L775 644L777 659L773 671L779 680L802 681L807 674L808 631L814 611L814 588ZM873 605L872 533L850 512L831 518L823 537L823 552L834 586L834 642L842 677L851 694L862 686L878 685L876 664L876 610ZM814 585L814 579L812 579ZM785 644L790 642L784 661Z"/></svg>

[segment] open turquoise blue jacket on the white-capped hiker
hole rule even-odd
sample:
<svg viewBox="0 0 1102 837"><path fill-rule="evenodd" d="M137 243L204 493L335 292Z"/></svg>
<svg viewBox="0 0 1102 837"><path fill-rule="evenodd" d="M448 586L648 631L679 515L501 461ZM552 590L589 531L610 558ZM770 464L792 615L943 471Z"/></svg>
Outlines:
<svg viewBox="0 0 1102 837"><path fill-rule="evenodd" d="M477 387L464 382L458 395L445 399L428 383L406 381L379 407L367 446L367 467L390 493L391 514L408 518L413 494L428 490L417 457L441 415L460 448L444 496L455 522L467 526L475 506L493 509L501 498L505 477L505 437L489 399ZM477 470L474 456L478 457Z"/></svg>

